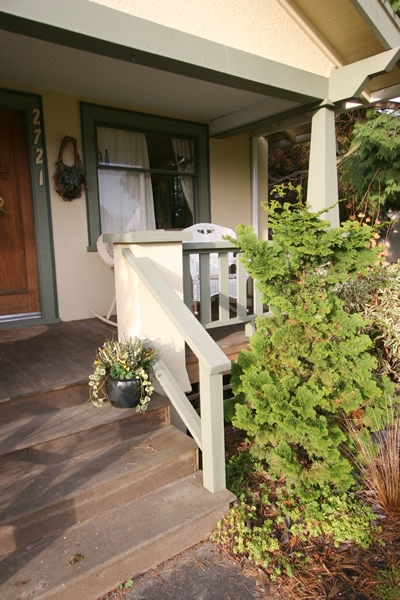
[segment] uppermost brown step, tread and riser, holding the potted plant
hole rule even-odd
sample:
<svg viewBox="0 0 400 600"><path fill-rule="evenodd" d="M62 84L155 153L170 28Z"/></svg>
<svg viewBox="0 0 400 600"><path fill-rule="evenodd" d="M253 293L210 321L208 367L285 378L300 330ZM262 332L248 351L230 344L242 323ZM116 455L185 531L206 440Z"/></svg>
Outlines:
<svg viewBox="0 0 400 600"><path fill-rule="evenodd" d="M0 403L0 483L170 423L169 400L156 393L144 415L108 402L96 408L87 402L88 386L54 394Z"/></svg>

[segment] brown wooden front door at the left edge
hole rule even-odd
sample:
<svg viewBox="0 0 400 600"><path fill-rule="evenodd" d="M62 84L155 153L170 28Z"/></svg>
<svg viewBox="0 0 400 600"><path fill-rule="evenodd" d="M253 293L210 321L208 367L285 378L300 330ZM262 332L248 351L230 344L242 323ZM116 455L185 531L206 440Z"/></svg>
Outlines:
<svg viewBox="0 0 400 600"><path fill-rule="evenodd" d="M24 115L0 109L0 315L40 311Z"/></svg>

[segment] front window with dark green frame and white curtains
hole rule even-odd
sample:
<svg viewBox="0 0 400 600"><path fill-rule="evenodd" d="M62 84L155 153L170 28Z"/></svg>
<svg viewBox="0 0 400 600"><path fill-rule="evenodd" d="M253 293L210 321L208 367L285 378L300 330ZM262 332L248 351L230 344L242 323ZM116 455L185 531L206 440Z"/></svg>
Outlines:
<svg viewBox="0 0 400 600"><path fill-rule="evenodd" d="M210 220L208 127L81 103L89 250L100 233Z"/></svg>

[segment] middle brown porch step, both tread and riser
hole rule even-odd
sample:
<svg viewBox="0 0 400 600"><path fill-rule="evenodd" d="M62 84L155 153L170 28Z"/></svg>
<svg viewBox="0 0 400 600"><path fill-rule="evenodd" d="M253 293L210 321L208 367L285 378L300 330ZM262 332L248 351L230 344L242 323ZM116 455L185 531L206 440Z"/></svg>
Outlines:
<svg viewBox="0 0 400 600"><path fill-rule="evenodd" d="M0 555L132 501L198 468L194 440L171 425L2 484Z"/></svg>

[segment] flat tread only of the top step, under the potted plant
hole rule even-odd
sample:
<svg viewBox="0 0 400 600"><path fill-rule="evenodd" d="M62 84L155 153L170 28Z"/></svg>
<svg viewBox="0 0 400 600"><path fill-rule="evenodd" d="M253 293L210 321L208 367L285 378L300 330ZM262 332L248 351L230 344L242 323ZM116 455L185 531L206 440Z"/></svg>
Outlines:
<svg viewBox="0 0 400 600"><path fill-rule="evenodd" d="M167 406L165 396L154 393L147 409L148 413ZM70 406L48 404L41 395L10 403L0 404L0 456L37 446L50 440L94 429L137 414L136 408L116 409L108 402L96 408L91 402Z"/></svg>

